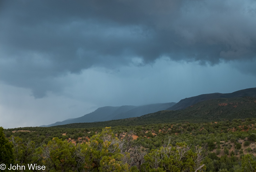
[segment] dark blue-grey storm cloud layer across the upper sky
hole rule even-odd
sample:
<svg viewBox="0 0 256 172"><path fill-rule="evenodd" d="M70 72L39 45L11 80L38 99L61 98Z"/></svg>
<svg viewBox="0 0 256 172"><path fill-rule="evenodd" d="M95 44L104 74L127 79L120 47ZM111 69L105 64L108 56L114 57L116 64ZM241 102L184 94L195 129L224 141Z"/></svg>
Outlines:
<svg viewBox="0 0 256 172"><path fill-rule="evenodd" d="M201 64L256 58L251 0L1 3L0 79L38 98L63 89L53 78L119 68L134 58L140 64L162 56Z"/></svg>

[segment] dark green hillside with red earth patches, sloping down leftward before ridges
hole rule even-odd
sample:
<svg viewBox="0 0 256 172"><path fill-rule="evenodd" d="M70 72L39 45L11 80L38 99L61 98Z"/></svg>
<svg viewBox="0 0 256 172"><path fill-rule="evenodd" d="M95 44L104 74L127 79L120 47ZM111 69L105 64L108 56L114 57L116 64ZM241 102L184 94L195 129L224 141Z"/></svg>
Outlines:
<svg viewBox="0 0 256 172"><path fill-rule="evenodd" d="M191 107L179 111L158 111L140 117L110 120L95 123L73 123L56 127L63 128L88 128L106 126L133 126L151 123L168 122L204 122L217 120L232 120L238 118L256 118L256 98L236 97L217 98L199 102Z"/></svg>

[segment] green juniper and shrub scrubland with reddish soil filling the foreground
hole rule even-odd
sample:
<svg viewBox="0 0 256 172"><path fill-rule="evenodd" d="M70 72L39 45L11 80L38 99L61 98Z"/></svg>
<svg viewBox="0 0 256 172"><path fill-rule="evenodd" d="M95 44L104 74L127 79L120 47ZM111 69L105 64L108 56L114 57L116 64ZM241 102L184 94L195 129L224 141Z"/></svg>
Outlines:
<svg viewBox="0 0 256 172"><path fill-rule="evenodd" d="M13 164L37 163L52 171L256 170L256 118L4 133L13 144Z"/></svg>

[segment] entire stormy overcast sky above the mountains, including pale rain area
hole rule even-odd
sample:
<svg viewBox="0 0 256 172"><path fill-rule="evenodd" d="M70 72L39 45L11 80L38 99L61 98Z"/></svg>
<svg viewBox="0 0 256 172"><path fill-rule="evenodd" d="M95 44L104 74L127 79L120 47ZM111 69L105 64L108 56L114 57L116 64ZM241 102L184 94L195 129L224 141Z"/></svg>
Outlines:
<svg viewBox="0 0 256 172"><path fill-rule="evenodd" d="M256 87L256 1L0 1L0 126Z"/></svg>

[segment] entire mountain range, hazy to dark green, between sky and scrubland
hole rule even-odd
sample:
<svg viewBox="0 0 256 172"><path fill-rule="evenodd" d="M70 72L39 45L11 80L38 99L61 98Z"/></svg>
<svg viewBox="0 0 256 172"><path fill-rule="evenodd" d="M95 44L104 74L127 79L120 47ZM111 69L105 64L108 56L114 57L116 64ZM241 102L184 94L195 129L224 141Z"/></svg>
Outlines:
<svg viewBox="0 0 256 172"><path fill-rule="evenodd" d="M244 96L247 96L247 98L245 98ZM250 89L239 90L233 93L226 93L226 94L222 94L222 93L202 94L199 96L182 99L177 104L164 103L164 104L151 104L151 105L145 105L145 106L139 106L139 107L138 106L102 107L82 117L75 118L72 120L65 120L63 122L57 122L48 126L70 124L65 127L68 127L68 126L72 126L72 127L76 127L76 126L77 127L78 126L94 127L95 126L96 127L96 126L116 126L116 125L144 125L146 123L147 124L163 123L163 122L171 122L171 121L187 120L187 119L202 121L202 120L210 120L210 119L219 120L219 119L233 119L233 118L252 118L252 117L255 118L256 117L256 114L254 111L255 110L254 108L256 108L256 104L254 104L256 102L255 97L256 97L256 88L250 88ZM217 100L218 98L220 100ZM232 104L230 102L231 98L237 98L234 100L232 99L232 101L237 101L236 103L238 104L239 104L239 101L247 102L247 100L249 100L250 98L255 99L253 100L253 102L254 101L255 102L250 103L250 106L246 106L245 104L241 103L242 105L239 105L239 108L232 109L231 108ZM213 102L209 103L207 102L208 100ZM225 113L222 113L223 112L222 110L217 111L217 109L219 108L218 107L219 103L217 103L216 105L216 102L215 102L216 100L218 102L224 102L226 100L227 101L226 103L230 103L230 104L223 107L223 109L225 110L225 108L227 107L230 107L230 109L226 109ZM209 111L203 111L201 107L198 107L198 109L193 110L193 107L195 106L195 104L197 106L200 106L201 105L200 103L205 103L205 102L206 102L205 108L206 109L209 108L208 109ZM213 107L212 104L215 104L215 106L218 108L211 109ZM166 109L166 111L162 111L164 109ZM248 111L250 111L249 114L247 113ZM217 115L219 112L220 112L219 116L217 117L214 116L214 114ZM153 118L149 117L150 113L155 114L153 115L154 116ZM163 114L165 115L163 116ZM191 114L194 115L194 118L191 117ZM141 115L144 115L144 116L138 117ZM117 119L120 119L120 120L117 120ZM99 122L99 121L103 121L103 122ZM95 123L92 123L92 122L95 122ZM72 123L76 123L76 124L72 124Z"/></svg>

